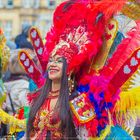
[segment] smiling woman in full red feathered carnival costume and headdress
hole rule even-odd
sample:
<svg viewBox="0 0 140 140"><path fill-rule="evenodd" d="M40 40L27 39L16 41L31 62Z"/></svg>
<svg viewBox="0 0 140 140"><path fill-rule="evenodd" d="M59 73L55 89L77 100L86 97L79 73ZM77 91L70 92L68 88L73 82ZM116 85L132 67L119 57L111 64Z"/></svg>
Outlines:
<svg viewBox="0 0 140 140"><path fill-rule="evenodd" d="M133 10L126 12L129 6L125 0L63 2L54 12L45 46L39 31L30 29L42 68L26 51L19 53L21 65L38 86L28 97L27 139L133 139L126 116L140 105L140 87L123 87L128 89L139 68L140 22L124 37L112 19L119 11L138 20ZM115 52L108 58L117 35Z"/></svg>

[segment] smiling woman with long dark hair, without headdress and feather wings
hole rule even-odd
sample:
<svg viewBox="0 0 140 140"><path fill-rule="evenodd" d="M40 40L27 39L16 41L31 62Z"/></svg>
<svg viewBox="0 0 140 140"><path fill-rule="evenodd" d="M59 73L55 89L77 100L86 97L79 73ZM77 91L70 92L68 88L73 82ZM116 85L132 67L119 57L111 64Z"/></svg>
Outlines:
<svg viewBox="0 0 140 140"><path fill-rule="evenodd" d="M76 139L70 113L66 70L65 58L59 55L50 57L46 83L31 107L27 125L28 138Z"/></svg>

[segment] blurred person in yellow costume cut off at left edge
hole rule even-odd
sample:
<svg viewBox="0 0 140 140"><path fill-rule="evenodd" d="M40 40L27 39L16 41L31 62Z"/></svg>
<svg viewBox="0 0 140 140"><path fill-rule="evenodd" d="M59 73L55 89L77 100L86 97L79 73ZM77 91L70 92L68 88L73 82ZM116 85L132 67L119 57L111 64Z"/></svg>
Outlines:
<svg viewBox="0 0 140 140"><path fill-rule="evenodd" d="M18 113L16 116L9 115L7 112L7 104L6 104L6 97L8 97L9 94L7 94L7 90L4 86L3 82L3 75L5 75L5 71L8 68L10 59L10 49L6 46L6 38L0 29L0 138L6 139L10 138L11 136L9 134L17 133L18 137L21 137L21 134L24 134L23 132L20 132L21 130L25 130L25 120L21 120L21 115ZM11 96L9 96L11 100ZM11 102L11 107L13 111L13 104ZM27 108L25 108L26 111ZM10 129L7 129L10 126ZM10 131L9 131L10 130ZM20 133L20 135L18 135ZM13 137L12 137L13 138Z"/></svg>

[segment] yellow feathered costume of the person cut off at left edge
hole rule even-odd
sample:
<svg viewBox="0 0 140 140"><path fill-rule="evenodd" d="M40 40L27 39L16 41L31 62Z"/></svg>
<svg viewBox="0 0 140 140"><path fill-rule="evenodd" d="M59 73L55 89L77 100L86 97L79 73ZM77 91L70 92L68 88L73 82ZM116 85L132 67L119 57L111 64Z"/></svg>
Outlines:
<svg viewBox="0 0 140 140"><path fill-rule="evenodd" d="M3 85L2 74L7 69L10 57L10 50L7 46L5 46L5 43L6 38L0 29L0 124L4 123L10 125L10 133L13 134L21 130L25 131L26 120L21 120L21 118L18 119L18 117L16 118L12 115L9 115L2 109L2 105L6 100L6 89Z"/></svg>

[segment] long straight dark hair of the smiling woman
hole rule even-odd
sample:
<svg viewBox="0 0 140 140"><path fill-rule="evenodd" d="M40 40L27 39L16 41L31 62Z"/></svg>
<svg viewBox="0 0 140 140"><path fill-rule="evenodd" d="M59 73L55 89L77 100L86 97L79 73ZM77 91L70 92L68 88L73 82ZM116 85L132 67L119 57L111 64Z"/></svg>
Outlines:
<svg viewBox="0 0 140 140"><path fill-rule="evenodd" d="M67 70L67 63L66 60L63 58L63 74L61 78L61 88L60 88L60 94L58 97L58 102L56 104L56 109L58 109L58 116L61 121L61 132L63 136L65 136L65 139L76 139L76 132L74 128L74 124L72 122L72 116L70 112L70 106L69 106L69 88L68 88L68 77L66 74ZM35 115L37 111L42 106L43 102L47 98L47 95L49 94L51 90L52 81L48 78L47 75L47 81L45 86L42 89L42 92L40 93L40 96L34 101L30 114L29 114L29 120L27 124L27 140L29 139L30 132L33 129L33 122L35 119Z"/></svg>

